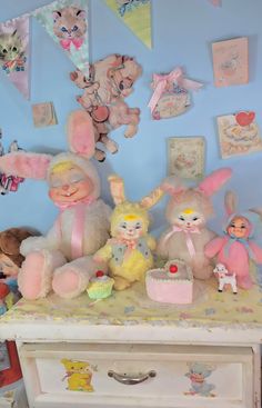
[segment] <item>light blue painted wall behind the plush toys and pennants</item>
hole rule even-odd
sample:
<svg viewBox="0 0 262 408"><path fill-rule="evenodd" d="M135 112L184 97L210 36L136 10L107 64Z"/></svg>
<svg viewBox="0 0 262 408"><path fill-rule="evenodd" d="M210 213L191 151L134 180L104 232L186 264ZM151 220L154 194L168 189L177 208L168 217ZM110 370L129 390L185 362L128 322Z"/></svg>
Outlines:
<svg viewBox="0 0 262 408"><path fill-rule="evenodd" d="M0 20L18 17L50 1L0 0ZM123 128L111 136L120 151L97 163L102 178L102 197L110 202L107 176L120 173L127 185L127 196L140 199L167 176L167 139L172 136L203 136L206 140L206 173L232 167L234 173L226 187L238 191L241 208L262 206L260 188L262 153L220 158L215 117L239 110L254 110L262 129L262 1L223 0L222 8L208 0L152 0L153 49L149 49L107 8L103 0L90 0L91 61L110 53L135 57L143 74L127 100L141 109L141 122L133 139L124 139ZM249 37L250 82L245 86L218 89L213 86L211 42L233 37ZM189 78L201 80L205 88L192 96L193 108L174 119L153 121L147 108L151 96L153 72L168 72L182 66ZM32 19L31 101L26 101L7 78L0 76L0 127L6 147L17 139L26 150L57 151L67 148L64 123L68 113L80 108L74 97L79 90L69 79L72 62ZM59 125L37 129L32 125L31 105L52 101ZM224 189L225 190L225 189ZM223 215L223 193L216 195L216 217L211 226L220 231ZM1 229L31 226L46 232L52 225L57 209L49 200L44 182L27 180L17 193L0 197ZM165 200L153 210L158 230L164 222Z"/></svg>

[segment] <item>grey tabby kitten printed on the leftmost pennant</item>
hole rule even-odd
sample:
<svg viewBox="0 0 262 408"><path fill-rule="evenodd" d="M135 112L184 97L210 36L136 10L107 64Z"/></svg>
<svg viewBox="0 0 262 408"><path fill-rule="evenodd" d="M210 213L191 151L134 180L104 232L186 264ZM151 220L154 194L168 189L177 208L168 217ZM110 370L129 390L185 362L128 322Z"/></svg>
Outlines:
<svg viewBox="0 0 262 408"><path fill-rule="evenodd" d="M7 73L23 70L24 62L24 46L18 31L0 33L0 63L2 69Z"/></svg>

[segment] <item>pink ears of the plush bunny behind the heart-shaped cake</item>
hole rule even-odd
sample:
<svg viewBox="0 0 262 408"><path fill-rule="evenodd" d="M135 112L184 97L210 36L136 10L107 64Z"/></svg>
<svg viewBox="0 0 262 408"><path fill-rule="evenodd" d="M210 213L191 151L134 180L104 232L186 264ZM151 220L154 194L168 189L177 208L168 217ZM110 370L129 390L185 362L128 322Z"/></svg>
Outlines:
<svg viewBox="0 0 262 408"><path fill-rule="evenodd" d="M214 195L222 186L231 178L232 170L230 168L222 168L213 171L210 176L205 177L203 181L196 187L198 190L203 192L206 197ZM170 196L175 196L184 190L181 180L175 177L165 179L161 188Z"/></svg>

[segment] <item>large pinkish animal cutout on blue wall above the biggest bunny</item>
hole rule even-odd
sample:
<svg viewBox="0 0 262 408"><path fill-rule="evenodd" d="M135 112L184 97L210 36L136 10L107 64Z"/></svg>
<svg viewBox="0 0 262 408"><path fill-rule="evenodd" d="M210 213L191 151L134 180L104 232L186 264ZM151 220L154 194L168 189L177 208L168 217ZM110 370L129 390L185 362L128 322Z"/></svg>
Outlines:
<svg viewBox="0 0 262 408"><path fill-rule="evenodd" d="M132 92L133 83L141 72L141 67L133 58L111 54L90 66L89 78L79 70L70 73L71 80L83 90L77 100L92 118L97 142L111 153L118 151L117 142L108 136L111 130L125 125L127 138L138 131L140 109L129 108L123 99ZM94 156L99 161L105 159L105 152L100 147L95 148Z"/></svg>

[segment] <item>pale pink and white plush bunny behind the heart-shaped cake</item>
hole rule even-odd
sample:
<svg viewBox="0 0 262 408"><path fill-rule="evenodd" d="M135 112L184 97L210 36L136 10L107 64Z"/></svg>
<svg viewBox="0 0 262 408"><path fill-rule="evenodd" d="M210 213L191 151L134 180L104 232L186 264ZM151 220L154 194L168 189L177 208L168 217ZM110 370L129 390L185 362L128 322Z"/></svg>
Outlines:
<svg viewBox="0 0 262 408"><path fill-rule="evenodd" d="M157 253L164 259L183 259L193 276L208 279L213 267L204 255L205 245L215 233L206 228L212 216L211 196L231 177L231 170L220 169L195 188L183 187L179 179L169 178L162 188L171 196L165 217L170 228L159 239Z"/></svg>

